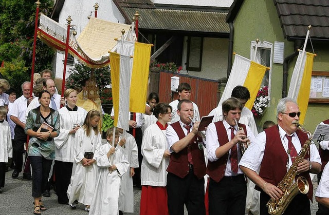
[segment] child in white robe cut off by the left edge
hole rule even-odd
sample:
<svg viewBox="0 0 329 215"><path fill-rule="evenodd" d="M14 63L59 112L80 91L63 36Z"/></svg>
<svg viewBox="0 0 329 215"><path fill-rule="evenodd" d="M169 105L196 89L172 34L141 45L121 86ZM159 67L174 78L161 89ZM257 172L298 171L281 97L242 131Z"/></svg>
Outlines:
<svg viewBox="0 0 329 215"><path fill-rule="evenodd" d="M11 133L8 122L5 120L7 109L0 106L0 193L5 186L6 163L12 158Z"/></svg>

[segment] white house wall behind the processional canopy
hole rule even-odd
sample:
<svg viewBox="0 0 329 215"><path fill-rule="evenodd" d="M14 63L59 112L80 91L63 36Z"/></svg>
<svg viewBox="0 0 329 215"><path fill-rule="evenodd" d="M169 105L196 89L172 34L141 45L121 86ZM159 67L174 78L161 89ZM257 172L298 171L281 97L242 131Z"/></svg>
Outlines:
<svg viewBox="0 0 329 215"><path fill-rule="evenodd" d="M97 18L105 19L107 21L111 22L119 22L124 23L124 18L121 15L118 8L115 6L113 1L108 0L97 0L97 1L81 1L81 0L70 0L65 1L63 5L63 9L59 16L59 24L62 26L65 26L67 24L66 19L70 15L72 18L71 26L76 25L76 31L78 32L77 37L79 37L79 34L83 30L83 28L87 25L89 19L87 19L87 16L90 14L90 11L95 11L94 5L95 3L98 3L98 12L97 12ZM92 16L95 14L93 13ZM65 26L66 28L66 26ZM97 40L97 38L95 38ZM63 69L64 69L64 54L57 53L56 58L56 69L54 69L54 72L56 74L56 77L63 77ZM66 67L66 71L68 71L70 66ZM66 77L68 76L68 72L66 72Z"/></svg>

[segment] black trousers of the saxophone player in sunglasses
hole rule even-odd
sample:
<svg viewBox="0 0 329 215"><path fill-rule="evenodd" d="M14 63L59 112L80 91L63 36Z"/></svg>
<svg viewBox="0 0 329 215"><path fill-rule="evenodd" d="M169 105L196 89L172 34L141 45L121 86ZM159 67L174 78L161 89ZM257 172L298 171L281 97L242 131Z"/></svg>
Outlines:
<svg viewBox="0 0 329 215"><path fill-rule="evenodd" d="M261 191L260 201L260 214L268 214L266 203L270 197L265 192ZM305 194L299 193L296 197L291 200L287 209L284 211L284 215L310 215L310 204L309 199Z"/></svg>

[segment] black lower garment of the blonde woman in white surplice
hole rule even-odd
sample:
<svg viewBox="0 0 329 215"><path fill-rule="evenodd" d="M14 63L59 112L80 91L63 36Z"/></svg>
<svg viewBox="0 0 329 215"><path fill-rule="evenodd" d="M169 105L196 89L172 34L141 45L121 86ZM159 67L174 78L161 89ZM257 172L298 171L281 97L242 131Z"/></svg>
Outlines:
<svg viewBox="0 0 329 215"><path fill-rule="evenodd" d="M58 203L68 204L67 188L70 184L73 163L55 161L54 169L56 172L56 194Z"/></svg>

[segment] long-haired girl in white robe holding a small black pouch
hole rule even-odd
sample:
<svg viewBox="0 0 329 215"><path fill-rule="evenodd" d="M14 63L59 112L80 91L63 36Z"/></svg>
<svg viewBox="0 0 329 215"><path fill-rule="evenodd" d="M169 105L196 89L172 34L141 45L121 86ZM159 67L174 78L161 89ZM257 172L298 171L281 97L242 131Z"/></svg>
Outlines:
<svg viewBox="0 0 329 215"><path fill-rule="evenodd" d="M81 128L75 137L75 163L72 168L71 183L67 189L68 203L75 209L77 203L86 205L89 211L97 180L97 165L93 155L102 145L101 134L98 131L100 113L98 110L90 110Z"/></svg>

